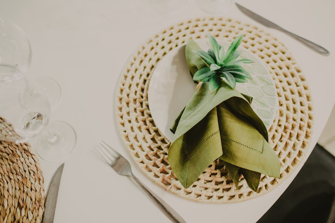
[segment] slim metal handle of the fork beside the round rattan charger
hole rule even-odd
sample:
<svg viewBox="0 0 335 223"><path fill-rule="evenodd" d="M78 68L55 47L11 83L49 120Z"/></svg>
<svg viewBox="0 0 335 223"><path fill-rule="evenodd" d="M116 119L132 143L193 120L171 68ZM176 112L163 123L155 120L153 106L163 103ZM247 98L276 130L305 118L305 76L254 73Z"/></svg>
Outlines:
<svg viewBox="0 0 335 223"><path fill-rule="evenodd" d="M130 176L134 181L149 195L151 200L157 205L157 207L164 212L164 214L175 223L186 223L186 221L175 211L170 205L166 204L160 197L158 197L153 191L147 188L137 177L134 175Z"/></svg>

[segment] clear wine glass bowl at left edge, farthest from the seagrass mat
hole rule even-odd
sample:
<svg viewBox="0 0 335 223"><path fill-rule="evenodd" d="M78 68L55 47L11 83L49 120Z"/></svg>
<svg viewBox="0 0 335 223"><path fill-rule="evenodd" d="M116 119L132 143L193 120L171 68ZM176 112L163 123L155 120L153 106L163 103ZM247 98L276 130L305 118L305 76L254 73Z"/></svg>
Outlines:
<svg viewBox="0 0 335 223"><path fill-rule="evenodd" d="M0 18L0 81L21 78L31 64L31 47L20 27Z"/></svg>

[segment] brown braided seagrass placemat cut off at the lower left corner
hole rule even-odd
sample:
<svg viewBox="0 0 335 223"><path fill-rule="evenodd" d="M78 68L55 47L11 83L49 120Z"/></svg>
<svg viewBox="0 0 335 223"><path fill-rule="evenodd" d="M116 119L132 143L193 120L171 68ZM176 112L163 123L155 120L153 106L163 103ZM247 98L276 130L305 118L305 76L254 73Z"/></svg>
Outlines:
<svg viewBox="0 0 335 223"><path fill-rule="evenodd" d="M0 117L1 125L2 132L11 129ZM44 178L30 144L0 141L0 223L39 223L43 207Z"/></svg>

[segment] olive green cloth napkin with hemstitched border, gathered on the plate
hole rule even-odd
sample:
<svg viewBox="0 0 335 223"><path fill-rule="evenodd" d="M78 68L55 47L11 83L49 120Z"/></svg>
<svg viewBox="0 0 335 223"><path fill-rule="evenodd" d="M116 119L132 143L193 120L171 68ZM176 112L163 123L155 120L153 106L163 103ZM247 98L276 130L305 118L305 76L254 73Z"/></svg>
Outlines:
<svg viewBox="0 0 335 223"><path fill-rule="evenodd" d="M191 74L207 66L186 45ZM199 60L200 58L200 60ZM232 89L226 82L210 92L203 82L174 121L175 133L169 149L172 170L185 188L190 187L211 162L220 158L236 187L240 175L257 191L261 173L278 178L280 162L268 143L268 132L251 106L251 97Z"/></svg>

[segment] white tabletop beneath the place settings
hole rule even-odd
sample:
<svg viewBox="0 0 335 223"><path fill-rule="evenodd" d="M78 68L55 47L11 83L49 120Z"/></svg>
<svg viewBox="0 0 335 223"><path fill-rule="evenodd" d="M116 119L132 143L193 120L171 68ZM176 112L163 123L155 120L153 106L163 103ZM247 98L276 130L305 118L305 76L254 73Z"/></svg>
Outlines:
<svg viewBox="0 0 335 223"><path fill-rule="evenodd" d="M277 30L269 30L293 53L312 92L315 125L305 163L335 101L335 1L238 2L331 52L324 57ZM257 24L235 5L218 15ZM62 87L62 101L51 120L70 123L78 136L74 152L65 160L55 222L170 222L135 183L116 174L94 150L100 139L125 155L134 174L187 222L256 222L303 165L266 195L233 204L182 199L165 192L137 169L115 127L113 101L117 80L129 55L152 35L179 21L210 16L199 10L193 0L172 14L156 12L149 0L0 0L0 16L17 23L31 42L33 57L27 75L52 77ZM40 162L47 187L60 162Z"/></svg>

